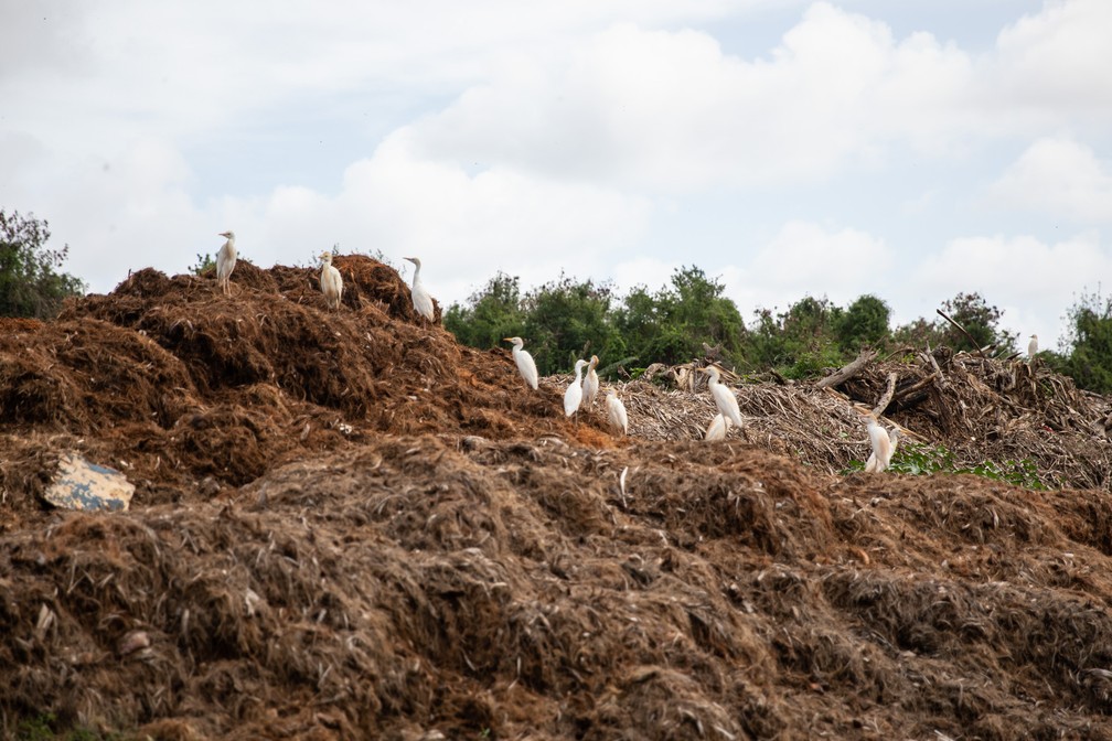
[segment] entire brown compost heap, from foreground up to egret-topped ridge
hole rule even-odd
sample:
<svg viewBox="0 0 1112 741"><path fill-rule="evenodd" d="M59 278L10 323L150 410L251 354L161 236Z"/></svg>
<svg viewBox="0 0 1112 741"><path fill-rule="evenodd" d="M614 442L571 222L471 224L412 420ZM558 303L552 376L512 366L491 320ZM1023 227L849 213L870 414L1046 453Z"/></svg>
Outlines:
<svg viewBox="0 0 1112 741"><path fill-rule="evenodd" d="M715 443L705 385L629 383L618 438L335 264L339 311L241 261L0 320L4 734L1112 739L1106 400L923 350L735 383ZM886 388L1051 488L846 472ZM67 451L131 509L44 505Z"/></svg>

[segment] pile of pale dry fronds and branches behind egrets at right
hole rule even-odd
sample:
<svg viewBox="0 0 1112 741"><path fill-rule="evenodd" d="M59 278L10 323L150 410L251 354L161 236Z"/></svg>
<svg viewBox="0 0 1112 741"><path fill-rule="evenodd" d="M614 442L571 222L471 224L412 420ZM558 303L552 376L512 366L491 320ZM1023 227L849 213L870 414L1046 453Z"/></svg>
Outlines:
<svg viewBox="0 0 1112 741"><path fill-rule="evenodd" d="M954 467L1030 461L1051 487L1109 488L1112 482L1112 403L1079 390L1035 360L1000 360L947 349L866 364L834 387L744 383L733 377L745 427L732 439L794 455L835 473L868 457L854 402L874 407L894 377L886 423L914 443L945 449ZM702 439L717 413L706 377L695 367L658 367L665 387L636 381L620 388L631 433L651 440Z"/></svg>

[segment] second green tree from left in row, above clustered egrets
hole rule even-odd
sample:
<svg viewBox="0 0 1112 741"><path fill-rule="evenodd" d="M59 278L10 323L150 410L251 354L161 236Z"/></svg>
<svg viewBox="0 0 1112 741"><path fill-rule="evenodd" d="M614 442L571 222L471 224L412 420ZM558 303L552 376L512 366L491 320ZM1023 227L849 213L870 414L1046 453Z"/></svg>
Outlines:
<svg viewBox="0 0 1112 741"><path fill-rule="evenodd" d="M526 293L522 337L535 349L542 375L567 372L576 359L592 353L603 366L626 356L625 342L610 314L608 284L577 281L566 276Z"/></svg>

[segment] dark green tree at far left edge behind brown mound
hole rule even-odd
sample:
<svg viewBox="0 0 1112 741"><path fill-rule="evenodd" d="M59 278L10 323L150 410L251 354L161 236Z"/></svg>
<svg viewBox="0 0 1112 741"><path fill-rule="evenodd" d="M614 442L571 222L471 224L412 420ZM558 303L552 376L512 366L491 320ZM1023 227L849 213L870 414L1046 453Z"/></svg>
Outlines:
<svg viewBox="0 0 1112 741"><path fill-rule="evenodd" d="M47 222L0 210L0 316L49 319L62 301L85 293L85 283L57 272L69 256L69 246L50 249Z"/></svg>

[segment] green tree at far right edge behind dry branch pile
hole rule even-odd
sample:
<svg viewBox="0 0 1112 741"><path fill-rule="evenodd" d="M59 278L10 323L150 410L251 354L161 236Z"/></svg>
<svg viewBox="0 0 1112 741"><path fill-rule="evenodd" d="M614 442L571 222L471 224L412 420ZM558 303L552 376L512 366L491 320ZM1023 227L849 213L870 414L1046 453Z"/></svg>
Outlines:
<svg viewBox="0 0 1112 741"><path fill-rule="evenodd" d="M1112 393L1112 298L1082 294L1066 318L1070 326L1061 349L1069 352L1061 370L1082 389Z"/></svg>

